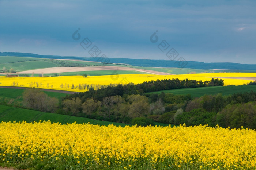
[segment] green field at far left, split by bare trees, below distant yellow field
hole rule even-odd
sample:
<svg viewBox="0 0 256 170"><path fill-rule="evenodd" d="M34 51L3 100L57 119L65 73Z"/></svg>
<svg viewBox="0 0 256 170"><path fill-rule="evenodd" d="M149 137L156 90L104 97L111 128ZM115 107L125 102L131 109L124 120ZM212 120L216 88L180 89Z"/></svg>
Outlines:
<svg viewBox="0 0 256 170"><path fill-rule="evenodd" d="M24 89L10 89L10 88L0 88L0 101L5 101L7 104L12 105L22 105L22 93ZM55 97L60 99L66 96L64 93L47 92L45 93L50 97Z"/></svg>

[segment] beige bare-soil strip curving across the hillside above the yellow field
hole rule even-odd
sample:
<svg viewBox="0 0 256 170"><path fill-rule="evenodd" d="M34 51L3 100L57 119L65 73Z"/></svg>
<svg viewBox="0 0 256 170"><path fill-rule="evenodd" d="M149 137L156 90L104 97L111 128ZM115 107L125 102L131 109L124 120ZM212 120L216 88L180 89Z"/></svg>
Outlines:
<svg viewBox="0 0 256 170"><path fill-rule="evenodd" d="M65 73L65 72L82 72L82 71L103 71L103 70L113 70L115 74L120 71L138 71L144 73L150 73L155 75L173 75L170 73L158 72L153 70L143 70L129 67L118 67L118 66L90 66L90 67L51 67L44 69L35 69L35 70L27 70L22 72L17 72L19 74L52 74L52 73Z"/></svg>

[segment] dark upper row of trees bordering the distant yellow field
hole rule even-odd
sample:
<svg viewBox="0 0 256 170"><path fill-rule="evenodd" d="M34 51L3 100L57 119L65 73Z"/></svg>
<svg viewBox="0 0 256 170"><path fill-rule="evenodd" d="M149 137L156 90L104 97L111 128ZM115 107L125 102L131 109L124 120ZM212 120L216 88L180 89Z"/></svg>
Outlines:
<svg viewBox="0 0 256 170"><path fill-rule="evenodd" d="M79 97L83 102L86 98L94 98L95 100L102 101L104 97L109 96L127 96L131 94L144 94L147 92L155 92L159 90L171 90L181 88L197 88L206 86L223 86L224 81L222 79L214 79L211 81L197 81L197 80L179 80L179 79L165 79L148 81L140 84L129 83L126 85L118 84L117 86L102 86L100 89L94 90L89 88L88 91L83 93L71 94L64 99L71 99L73 97Z"/></svg>

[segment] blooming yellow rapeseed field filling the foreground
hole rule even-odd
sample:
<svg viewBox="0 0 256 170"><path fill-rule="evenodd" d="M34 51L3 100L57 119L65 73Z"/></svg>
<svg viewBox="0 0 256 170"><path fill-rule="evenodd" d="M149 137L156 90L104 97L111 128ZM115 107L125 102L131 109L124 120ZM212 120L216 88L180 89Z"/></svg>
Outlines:
<svg viewBox="0 0 256 170"><path fill-rule="evenodd" d="M27 169L255 169L256 132L0 123L0 165ZM50 166L50 167L49 167Z"/></svg>

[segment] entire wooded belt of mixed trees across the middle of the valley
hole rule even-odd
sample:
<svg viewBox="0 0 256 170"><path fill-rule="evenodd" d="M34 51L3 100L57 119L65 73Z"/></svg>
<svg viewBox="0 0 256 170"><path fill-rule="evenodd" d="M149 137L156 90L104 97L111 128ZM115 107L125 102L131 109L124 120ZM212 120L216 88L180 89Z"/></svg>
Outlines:
<svg viewBox="0 0 256 170"><path fill-rule="evenodd" d="M145 91L155 90L162 84L163 87L168 86L171 82L180 82L176 87L182 88L184 82L191 86L196 81L172 79L107 86L98 90L89 88L87 92L67 95L60 101L48 97L39 89L30 88L25 90L23 98L29 108L97 120L138 125L152 125L152 121L158 121L175 125L185 123L188 126L208 124L214 127L219 124L221 127L256 128L256 92L229 96L204 95L199 98L164 92L145 94ZM222 82L221 79L212 79L208 85L223 85Z"/></svg>

